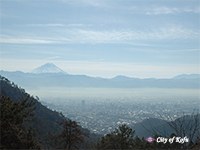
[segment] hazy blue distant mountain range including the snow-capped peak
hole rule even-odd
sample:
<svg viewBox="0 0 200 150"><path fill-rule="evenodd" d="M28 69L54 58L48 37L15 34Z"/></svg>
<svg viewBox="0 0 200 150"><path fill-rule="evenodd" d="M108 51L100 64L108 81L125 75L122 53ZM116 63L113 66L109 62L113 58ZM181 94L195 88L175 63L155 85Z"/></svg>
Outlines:
<svg viewBox="0 0 200 150"><path fill-rule="evenodd" d="M0 71L22 87L105 87L105 88L192 88L199 89L200 74L178 75L171 79L139 79L116 76L112 79L86 75L70 75L54 64L47 63L31 73Z"/></svg>

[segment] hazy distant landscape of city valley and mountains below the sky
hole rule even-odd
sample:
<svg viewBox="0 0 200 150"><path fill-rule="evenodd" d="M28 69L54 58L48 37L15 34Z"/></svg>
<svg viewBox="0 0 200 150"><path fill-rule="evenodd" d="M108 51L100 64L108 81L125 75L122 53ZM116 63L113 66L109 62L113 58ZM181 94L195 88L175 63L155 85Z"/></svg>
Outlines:
<svg viewBox="0 0 200 150"><path fill-rule="evenodd" d="M182 113L189 115L199 110L199 74L170 79L121 75L107 79L70 75L52 63L30 73L0 73L47 108L62 112L96 134L108 134L122 124L134 127L148 118L167 119L169 115L174 120Z"/></svg>

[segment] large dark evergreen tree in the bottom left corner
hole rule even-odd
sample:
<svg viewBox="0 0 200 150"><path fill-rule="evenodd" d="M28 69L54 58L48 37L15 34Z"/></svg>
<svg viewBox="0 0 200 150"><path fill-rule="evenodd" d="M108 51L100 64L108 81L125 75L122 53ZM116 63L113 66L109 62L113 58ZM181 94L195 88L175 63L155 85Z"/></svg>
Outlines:
<svg viewBox="0 0 200 150"><path fill-rule="evenodd" d="M26 130L24 123L33 119L35 108L29 97L21 102L12 101L0 95L1 107L1 148L30 149L40 148L33 139L31 130Z"/></svg>

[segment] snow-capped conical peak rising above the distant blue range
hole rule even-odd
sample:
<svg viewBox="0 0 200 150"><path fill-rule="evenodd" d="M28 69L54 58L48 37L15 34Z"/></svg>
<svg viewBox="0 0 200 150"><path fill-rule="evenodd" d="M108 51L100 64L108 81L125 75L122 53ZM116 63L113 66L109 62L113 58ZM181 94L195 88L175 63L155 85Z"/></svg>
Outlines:
<svg viewBox="0 0 200 150"><path fill-rule="evenodd" d="M63 74L67 74L65 71L63 71L62 69L58 68L53 63L46 63L46 64L34 69L31 73L35 73L35 74L41 74L41 73L63 73Z"/></svg>

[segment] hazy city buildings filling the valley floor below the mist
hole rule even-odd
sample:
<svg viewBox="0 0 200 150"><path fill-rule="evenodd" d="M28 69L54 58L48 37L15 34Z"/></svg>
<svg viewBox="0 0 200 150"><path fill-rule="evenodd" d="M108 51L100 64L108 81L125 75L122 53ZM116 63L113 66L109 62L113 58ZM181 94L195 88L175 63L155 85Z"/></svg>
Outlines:
<svg viewBox="0 0 200 150"><path fill-rule="evenodd" d="M107 134L121 124L134 125L147 118L176 119L198 109L199 99L182 98L109 98L68 99L46 103L71 120L98 134Z"/></svg>

